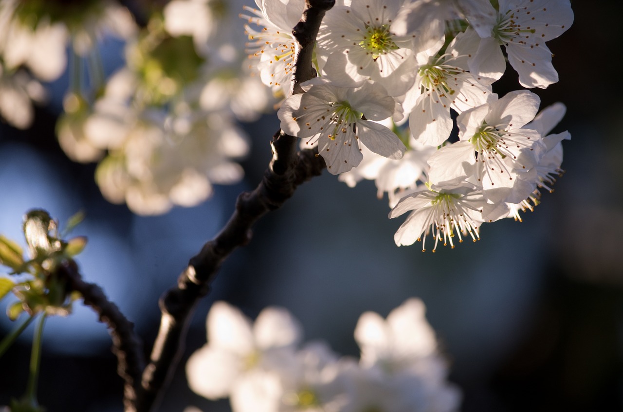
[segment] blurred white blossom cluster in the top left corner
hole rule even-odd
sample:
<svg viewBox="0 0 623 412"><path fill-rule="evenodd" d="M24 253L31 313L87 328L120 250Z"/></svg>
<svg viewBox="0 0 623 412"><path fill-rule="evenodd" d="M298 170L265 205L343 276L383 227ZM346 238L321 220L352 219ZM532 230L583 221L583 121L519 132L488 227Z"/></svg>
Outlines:
<svg viewBox="0 0 623 412"><path fill-rule="evenodd" d="M127 39L135 30L130 13L111 0L0 0L0 118L16 128L31 126L31 101L42 103L46 95L39 80L51 82L65 71L68 44L72 66L78 56L93 66L100 60L98 39ZM91 68L92 76L101 76L100 68Z"/></svg>

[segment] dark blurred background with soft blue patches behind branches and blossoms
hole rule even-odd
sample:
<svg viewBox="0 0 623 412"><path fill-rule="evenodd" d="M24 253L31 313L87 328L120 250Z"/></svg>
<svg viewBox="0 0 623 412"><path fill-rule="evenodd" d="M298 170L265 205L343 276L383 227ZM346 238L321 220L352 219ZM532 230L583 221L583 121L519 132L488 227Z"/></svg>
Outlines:
<svg viewBox="0 0 623 412"><path fill-rule="evenodd" d="M573 27L548 43L560 81L533 91L541 107L567 105L554 131L568 129L572 139L564 142L567 173L556 192L544 194L523 223L484 225L477 243L435 254L397 248L392 236L401 220L386 218L387 202L376 200L374 184L349 189L325 173L262 219L250 245L227 261L197 307L184 360L205 343L205 316L219 299L250 317L266 306L286 307L302 322L305 340L358 355L359 315L386 316L417 296L450 360L450 380L464 391L463 411L623 410L623 84L616 65L623 37L603 29L619 26L623 5L607 4L573 2ZM120 45L108 52L112 70ZM505 93L516 85L509 73L495 87ZM198 207L137 217L102 198L93 164L71 162L61 151L53 131L67 78L50 86L55 97L37 108L31 129L0 124L0 233L22 239L30 208L45 208L61 223L83 210L87 218L75 230L88 236L78 256L83 276L135 322L148 352L158 297L226 222L237 194L261 179L277 117L244 125L253 143L244 182L217 187ZM0 316L0 336L12 327ZM31 337L32 328L0 358L0 405L24 391ZM110 346L105 326L80 304L70 317L50 319L40 403L49 412L121 411ZM161 411L227 410L225 401L194 395L185 379L180 367Z"/></svg>

